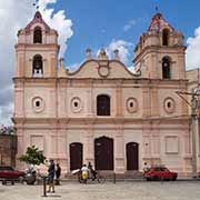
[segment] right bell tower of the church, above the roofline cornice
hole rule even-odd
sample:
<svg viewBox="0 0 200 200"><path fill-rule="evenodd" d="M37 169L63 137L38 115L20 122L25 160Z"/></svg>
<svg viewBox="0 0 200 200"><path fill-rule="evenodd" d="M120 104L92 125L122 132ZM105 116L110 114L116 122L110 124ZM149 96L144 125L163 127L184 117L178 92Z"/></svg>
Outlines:
<svg viewBox="0 0 200 200"><path fill-rule="evenodd" d="M134 49L133 63L143 78L186 79L183 34L157 13Z"/></svg>

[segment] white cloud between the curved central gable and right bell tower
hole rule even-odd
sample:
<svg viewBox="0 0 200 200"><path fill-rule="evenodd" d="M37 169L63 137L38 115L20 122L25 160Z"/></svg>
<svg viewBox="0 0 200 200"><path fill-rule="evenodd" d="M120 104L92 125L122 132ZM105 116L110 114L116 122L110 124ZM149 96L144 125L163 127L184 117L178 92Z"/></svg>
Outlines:
<svg viewBox="0 0 200 200"><path fill-rule="evenodd" d="M113 51L118 49L120 60L127 64L130 56L129 50L130 48L132 48L132 46L133 44L131 42L124 40L112 40L111 43L106 48L106 50L108 54L111 56Z"/></svg>

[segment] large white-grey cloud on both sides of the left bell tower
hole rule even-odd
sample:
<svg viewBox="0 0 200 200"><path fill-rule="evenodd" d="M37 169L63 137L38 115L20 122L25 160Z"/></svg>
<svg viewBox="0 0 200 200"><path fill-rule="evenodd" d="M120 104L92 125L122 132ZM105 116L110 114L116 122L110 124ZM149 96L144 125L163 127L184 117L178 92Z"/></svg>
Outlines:
<svg viewBox="0 0 200 200"><path fill-rule="evenodd" d="M33 18L36 8L32 7L33 0L0 0L0 123L10 123L12 116L12 90L4 92L12 84L14 73L14 43L17 31L24 28ZM59 32L59 44L61 46L60 56L67 49L67 40L72 36L72 22L67 19L63 10L56 11L49 8L57 3L57 0L39 0L40 10L43 19ZM51 6L52 7L52 6Z"/></svg>

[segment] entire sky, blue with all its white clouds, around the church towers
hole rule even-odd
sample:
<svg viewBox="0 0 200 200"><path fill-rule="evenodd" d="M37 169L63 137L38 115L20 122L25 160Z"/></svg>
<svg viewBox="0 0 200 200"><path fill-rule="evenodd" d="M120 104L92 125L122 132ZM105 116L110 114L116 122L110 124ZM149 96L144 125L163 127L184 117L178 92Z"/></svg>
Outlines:
<svg viewBox="0 0 200 200"><path fill-rule="evenodd" d="M13 113L14 43L17 32L33 18L34 0L0 0L0 124L11 124ZM187 70L200 67L200 1L182 0L39 0L44 21L59 32L59 57L76 70L87 48L93 56L101 48L132 70L133 49L147 31L156 7L184 34Z"/></svg>

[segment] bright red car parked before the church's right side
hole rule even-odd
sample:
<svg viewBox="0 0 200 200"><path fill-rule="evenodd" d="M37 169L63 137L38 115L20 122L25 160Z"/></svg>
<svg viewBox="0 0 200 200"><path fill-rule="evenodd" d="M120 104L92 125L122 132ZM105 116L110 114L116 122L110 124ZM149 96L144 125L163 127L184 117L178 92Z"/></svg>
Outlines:
<svg viewBox="0 0 200 200"><path fill-rule="evenodd" d="M147 172L144 172L144 178L150 180L177 180L178 173L170 171L166 167L151 167Z"/></svg>

